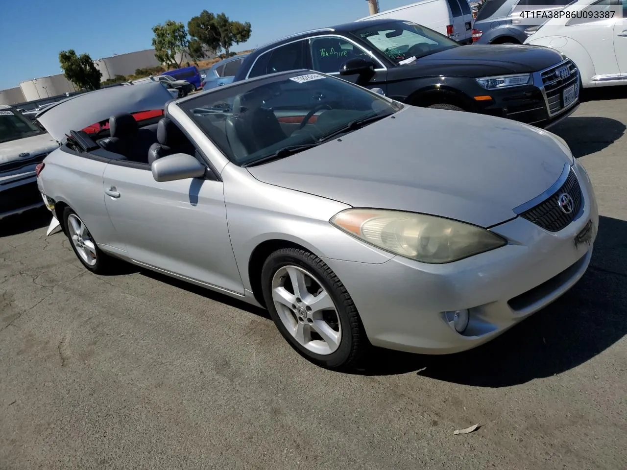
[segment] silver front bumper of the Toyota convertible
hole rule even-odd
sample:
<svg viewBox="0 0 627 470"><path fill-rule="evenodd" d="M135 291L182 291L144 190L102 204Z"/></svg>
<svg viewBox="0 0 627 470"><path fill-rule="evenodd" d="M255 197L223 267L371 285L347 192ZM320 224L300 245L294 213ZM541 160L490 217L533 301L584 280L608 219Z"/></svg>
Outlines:
<svg viewBox="0 0 627 470"><path fill-rule="evenodd" d="M382 264L325 259L342 279L373 345L418 353L454 353L497 337L549 305L587 269L598 227L598 207L581 165L574 170L583 204L574 221L548 232L522 217L493 227L507 246L449 264L396 256ZM574 239L588 221L591 241ZM441 315L469 309L470 323L455 332Z"/></svg>

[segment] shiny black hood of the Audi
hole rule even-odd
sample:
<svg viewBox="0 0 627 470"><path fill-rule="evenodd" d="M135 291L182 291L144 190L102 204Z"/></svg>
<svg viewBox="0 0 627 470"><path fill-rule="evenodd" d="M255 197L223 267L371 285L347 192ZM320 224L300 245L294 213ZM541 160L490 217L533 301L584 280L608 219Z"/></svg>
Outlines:
<svg viewBox="0 0 627 470"><path fill-rule="evenodd" d="M460 46L419 58L415 65L401 66L412 72L428 68L431 73L471 77L502 73L530 73L564 60L559 52L539 46L519 44L475 44ZM410 72L411 70L411 72Z"/></svg>

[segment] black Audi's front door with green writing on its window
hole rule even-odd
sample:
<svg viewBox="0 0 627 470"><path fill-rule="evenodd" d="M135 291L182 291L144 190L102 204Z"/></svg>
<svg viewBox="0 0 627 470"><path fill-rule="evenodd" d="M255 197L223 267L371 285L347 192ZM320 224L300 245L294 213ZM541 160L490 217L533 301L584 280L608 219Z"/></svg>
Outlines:
<svg viewBox="0 0 627 470"><path fill-rule="evenodd" d="M357 83L359 75L340 75L340 67L345 61L352 58L364 58L376 63L374 76L368 83L359 83L366 88L381 88L387 94L387 69L366 50L343 36L329 34L309 39L312 69L329 75L337 76L342 80Z"/></svg>

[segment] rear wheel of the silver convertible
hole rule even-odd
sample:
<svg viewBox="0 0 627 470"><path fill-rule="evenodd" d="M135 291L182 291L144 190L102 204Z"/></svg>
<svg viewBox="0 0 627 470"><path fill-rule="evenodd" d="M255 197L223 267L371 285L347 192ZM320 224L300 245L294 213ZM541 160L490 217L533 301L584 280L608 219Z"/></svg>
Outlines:
<svg viewBox="0 0 627 470"><path fill-rule="evenodd" d="M76 212L70 207L63 211L63 227L76 258L85 268L95 274L103 274L111 268L113 258L103 253L94 241L92 234Z"/></svg>

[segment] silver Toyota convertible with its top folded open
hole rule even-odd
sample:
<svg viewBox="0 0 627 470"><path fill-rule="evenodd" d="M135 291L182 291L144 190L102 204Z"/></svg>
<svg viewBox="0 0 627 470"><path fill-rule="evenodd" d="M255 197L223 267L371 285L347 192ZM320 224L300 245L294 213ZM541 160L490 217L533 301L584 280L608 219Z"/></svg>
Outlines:
<svg viewBox="0 0 627 470"><path fill-rule="evenodd" d="M119 86L40 117L62 145L38 185L78 259L265 306L323 367L369 345L476 347L589 264L593 188L545 130L307 70L168 100L158 83ZM160 108L157 122L131 115Z"/></svg>

